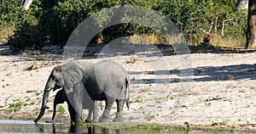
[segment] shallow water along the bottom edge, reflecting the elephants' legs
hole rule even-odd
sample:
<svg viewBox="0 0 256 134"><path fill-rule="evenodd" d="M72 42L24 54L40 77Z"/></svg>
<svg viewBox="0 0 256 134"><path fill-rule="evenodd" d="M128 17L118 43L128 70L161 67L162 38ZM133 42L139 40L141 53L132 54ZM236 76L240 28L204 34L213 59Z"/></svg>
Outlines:
<svg viewBox="0 0 256 134"><path fill-rule="evenodd" d="M129 128L130 127L130 128ZM154 126L150 126L154 127ZM155 129L156 128L156 129ZM172 130L172 131L170 131ZM117 123L108 124L83 124L78 126L71 126L69 123L57 122L46 123L38 122L35 124L32 120L0 120L0 133L106 133L106 134L137 134L137 133L177 133L177 134L245 134L255 133L255 131L223 131L223 130L209 130L209 129L192 129L190 131L180 130L179 128L173 131L173 128L159 129L158 127L148 128L146 127L132 127Z"/></svg>

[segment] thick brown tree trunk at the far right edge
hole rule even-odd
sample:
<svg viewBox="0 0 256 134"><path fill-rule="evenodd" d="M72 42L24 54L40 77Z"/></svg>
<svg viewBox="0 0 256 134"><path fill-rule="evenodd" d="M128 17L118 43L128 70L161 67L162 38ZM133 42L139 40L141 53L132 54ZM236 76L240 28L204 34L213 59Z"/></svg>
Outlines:
<svg viewBox="0 0 256 134"><path fill-rule="evenodd" d="M247 48L256 48L256 0L248 3Z"/></svg>

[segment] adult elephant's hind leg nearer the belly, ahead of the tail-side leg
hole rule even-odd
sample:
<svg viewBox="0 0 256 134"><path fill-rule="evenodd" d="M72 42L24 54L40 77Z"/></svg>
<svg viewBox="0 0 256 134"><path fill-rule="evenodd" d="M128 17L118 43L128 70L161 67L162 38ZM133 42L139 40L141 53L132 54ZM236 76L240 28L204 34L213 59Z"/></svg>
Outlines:
<svg viewBox="0 0 256 134"><path fill-rule="evenodd" d="M102 117L99 119L100 122L107 122L108 121L109 112L110 112L110 109L113 105L114 98L107 98L105 100L105 102L106 102L106 106L105 106L104 112L102 114Z"/></svg>

